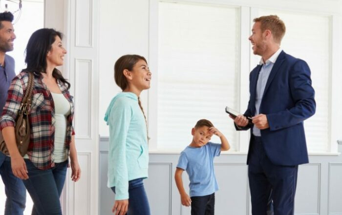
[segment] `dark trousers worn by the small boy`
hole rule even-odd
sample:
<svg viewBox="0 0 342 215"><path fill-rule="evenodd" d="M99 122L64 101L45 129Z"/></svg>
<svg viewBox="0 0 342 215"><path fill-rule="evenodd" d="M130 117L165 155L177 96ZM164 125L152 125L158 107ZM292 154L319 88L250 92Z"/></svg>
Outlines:
<svg viewBox="0 0 342 215"><path fill-rule="evenodd" d="M191 197L191 215L214 215L215 193Z"/></svg>

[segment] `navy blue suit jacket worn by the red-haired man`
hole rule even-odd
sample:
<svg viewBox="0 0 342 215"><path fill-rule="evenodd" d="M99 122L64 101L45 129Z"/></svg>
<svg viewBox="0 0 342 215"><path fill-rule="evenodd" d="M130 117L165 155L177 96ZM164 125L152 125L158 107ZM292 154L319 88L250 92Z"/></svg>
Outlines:
<svg viewBox="0 0 342 215"><path fill-rule="evenodd" d="M260 69L261 65L257 65L250 73L250 99L245 116L255 116L256 113L256 82ZM275 165L292 166L309 162L303 121L316 111L310 75L304 60L282 51L266 82L259 113L266 115L270 127L261 130L261 139L266 155ZM247 130L252 127L236 128ZM249 156L250 149L247 164Z"/></svg>

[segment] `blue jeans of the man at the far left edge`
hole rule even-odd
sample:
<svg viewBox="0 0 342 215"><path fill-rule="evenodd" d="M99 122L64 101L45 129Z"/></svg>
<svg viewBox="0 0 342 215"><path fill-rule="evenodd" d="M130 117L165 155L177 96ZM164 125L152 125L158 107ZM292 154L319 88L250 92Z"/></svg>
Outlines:
<svg viewBox="0 0 342 215"><path fill-rule="evenodd" d="M4 215L23 215L26 189L22 180L12 173L11 158L0 152L0 175L5 185L6 203Z"/></svg>

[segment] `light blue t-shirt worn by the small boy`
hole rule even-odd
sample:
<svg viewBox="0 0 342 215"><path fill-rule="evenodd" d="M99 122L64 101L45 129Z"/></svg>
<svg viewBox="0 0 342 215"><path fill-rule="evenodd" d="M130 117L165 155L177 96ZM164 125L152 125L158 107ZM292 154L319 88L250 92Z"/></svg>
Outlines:
<svg viewBox="0 0 342 215"><path fill-rule="evenodd" d="M218 191L214 156L219 156L220 152L221 144L208 142L199 148L187 146L180 154L177 167L189 175L190 197L210 195Z"/></svg>

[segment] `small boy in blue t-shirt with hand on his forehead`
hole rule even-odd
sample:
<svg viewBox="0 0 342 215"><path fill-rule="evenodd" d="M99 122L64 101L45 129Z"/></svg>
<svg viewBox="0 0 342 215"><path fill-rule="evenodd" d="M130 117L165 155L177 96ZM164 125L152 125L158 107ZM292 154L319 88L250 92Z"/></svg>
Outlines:
<svg viewBox="0 0 342 215"><path fill-rule="evenodd" d="M191 130L192 142L179 156L174 179L182 205L191 205L192 215L214 215L215 192L218 190L214 174L214 156L230 148L228 140L207 119L199 120ZM214 135L220 137L221 144L209 142ZM190 179L190 196L185 192L182 173L186 171Z"/></svg>

